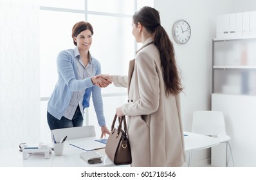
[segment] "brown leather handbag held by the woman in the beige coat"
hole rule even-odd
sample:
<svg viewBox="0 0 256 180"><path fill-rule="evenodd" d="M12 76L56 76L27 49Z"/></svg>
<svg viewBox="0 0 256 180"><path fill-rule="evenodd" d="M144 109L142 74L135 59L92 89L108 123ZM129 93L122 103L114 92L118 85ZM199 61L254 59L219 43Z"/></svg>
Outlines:
<svg viewBox="0 0 256 180"><path fill-rule="evenodd" d="M129 165L132 163L131 148L127 138L127 126L125 116L118 117L118 128L114 128L116 115L111 126L111 134L105 146L105 154L113 161L114 165ZM122 123L123 129L122 130Z"/></svg>

